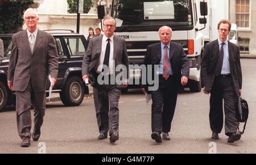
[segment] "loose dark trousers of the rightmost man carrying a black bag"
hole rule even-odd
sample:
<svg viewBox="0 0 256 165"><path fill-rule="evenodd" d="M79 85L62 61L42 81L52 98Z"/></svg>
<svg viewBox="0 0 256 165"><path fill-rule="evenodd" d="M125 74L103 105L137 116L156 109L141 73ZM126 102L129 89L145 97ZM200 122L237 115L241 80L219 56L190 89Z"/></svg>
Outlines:
<svg viewBox="0 0 256 165"><path fill-rule="evenodd" d="M223 126L223 104L225 113L225 134L230 136L237 132L238 122L236 119L237 97L233 90L232 77L216 77L210 92L210 129L220 133Z"/></svg>

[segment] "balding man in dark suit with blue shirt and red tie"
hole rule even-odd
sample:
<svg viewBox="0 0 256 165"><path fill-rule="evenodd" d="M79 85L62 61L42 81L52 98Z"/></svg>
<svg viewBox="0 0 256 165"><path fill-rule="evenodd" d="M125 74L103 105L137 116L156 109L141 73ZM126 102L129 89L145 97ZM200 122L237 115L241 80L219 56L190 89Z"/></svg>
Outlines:
<svg viewBox="0 0 256 165"><path fill-rule="evenodd" d="M159 65L159 69L152 69L152 75L158 75L158 90L146 92L151 93L152 114L151 138L157 143L162 142L160 134L163 132L163 139L170 140L168 132L171 130L171 122L177 101L177 92L183 90L189 77L189 63L183 46L171 42L172 29L163 26L159 29L160 43L147 47L144 57L144 65ZM154 73L156 71L156 73ZM143 88L143 91L145 89Z"/></svg>

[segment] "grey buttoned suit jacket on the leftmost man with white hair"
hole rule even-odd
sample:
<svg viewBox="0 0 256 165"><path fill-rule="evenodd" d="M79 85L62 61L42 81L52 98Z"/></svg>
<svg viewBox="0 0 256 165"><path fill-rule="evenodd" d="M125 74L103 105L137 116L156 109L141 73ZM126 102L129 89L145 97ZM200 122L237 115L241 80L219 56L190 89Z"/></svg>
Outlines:
<svg viewBox="0 0 256 165"><path fill-rule="evenodd" d="M8 81L13 82L14 91L26 90L30 81L34 91L45 91L47 75L57 78L59 65L53 36L38 30L33 52L26 30L13 35L12 43Z"/></svg>

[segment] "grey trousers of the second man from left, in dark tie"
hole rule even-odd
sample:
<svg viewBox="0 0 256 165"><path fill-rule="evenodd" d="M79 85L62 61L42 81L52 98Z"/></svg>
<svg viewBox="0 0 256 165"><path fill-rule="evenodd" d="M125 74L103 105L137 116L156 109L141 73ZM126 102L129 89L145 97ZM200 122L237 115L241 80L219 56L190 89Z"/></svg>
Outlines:
<svg viewBox="0 0 256 165"><path fill-rule="evenodd" d="M98 129L100 133L118 134L119 109L118 102L121 88L115 85L102 85L93 87L93 99L96 109Z"/></svg>

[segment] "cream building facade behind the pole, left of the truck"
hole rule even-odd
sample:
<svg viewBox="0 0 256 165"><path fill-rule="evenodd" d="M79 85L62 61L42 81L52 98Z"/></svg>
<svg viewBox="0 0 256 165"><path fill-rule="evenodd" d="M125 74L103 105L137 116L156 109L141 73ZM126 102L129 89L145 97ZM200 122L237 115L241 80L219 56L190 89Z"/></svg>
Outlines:
<svg viewBox="0 0 256 165"><path fill-rule="evenodd" d="M39 3L36 9L39 15L38 28L46 29L71 29L76 32L77 14L68 13L67 0L35 0ZM100 19L97 16L98 0L93 0L94 7L90 9L88 14L80 14L80 32L88 36L88 28L93 29L100 27ZM26 25L23 26L23 29Z"/></svg>

